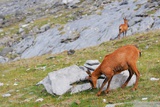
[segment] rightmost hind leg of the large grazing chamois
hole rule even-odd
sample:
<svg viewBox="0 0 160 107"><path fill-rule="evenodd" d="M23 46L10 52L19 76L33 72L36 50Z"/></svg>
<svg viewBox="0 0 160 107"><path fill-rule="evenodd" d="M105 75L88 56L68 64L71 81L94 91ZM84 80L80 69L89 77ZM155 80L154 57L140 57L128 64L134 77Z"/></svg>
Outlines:
<svg viewBox="0 0 160 107"><path fill-rule="evenodd" d="M130 67L131 67L132 71L136 74L136 82L134 84L134 87L132 88L132 90L134 91L138 87L138 81L139 81L139 78L140 78L140 73L139 73L139 71L137 69L136 63L135 64L131 64Z"/></svg>

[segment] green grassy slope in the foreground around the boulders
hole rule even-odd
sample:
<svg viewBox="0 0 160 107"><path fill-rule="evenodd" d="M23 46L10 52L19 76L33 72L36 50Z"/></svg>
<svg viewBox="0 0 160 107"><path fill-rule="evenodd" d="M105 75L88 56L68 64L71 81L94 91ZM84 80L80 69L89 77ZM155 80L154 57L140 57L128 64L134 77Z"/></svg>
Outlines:
<svg viewBox="0 0 160 107"><path fill-rule="evenodd" d="M52 96L43 86L35 84L42 80L51 71L71 66L83 65L86 60L103 60L106 54L113 52L120 46L134 44L139 47L142 57L137 66L141 73L138 90L132 92L131 87L111 90L109 94L102 93L96 96L98 89L87 90L77 94L69 93L62 96ZM149 46L146 48L146 46ZM104 107L111 103L124 103L118 107L133 106L133 102L160 102L160 80L150 81L151 77L160 78L160 30L148 33L140 33L100 44L99 46L76 50L74 55L68 56L66 52L61 54L49 54L30 59L22 59L15 62L0 64L0 107ZM65 61L65 62L64 62ZM37 67L46 66L46 71ZM13 84L17 83L17 86ZM11 96L3 98L2 95L10 93ZM35 102L43 98L42 102ZM106 99L106 102L103 102Z"/></svg>

